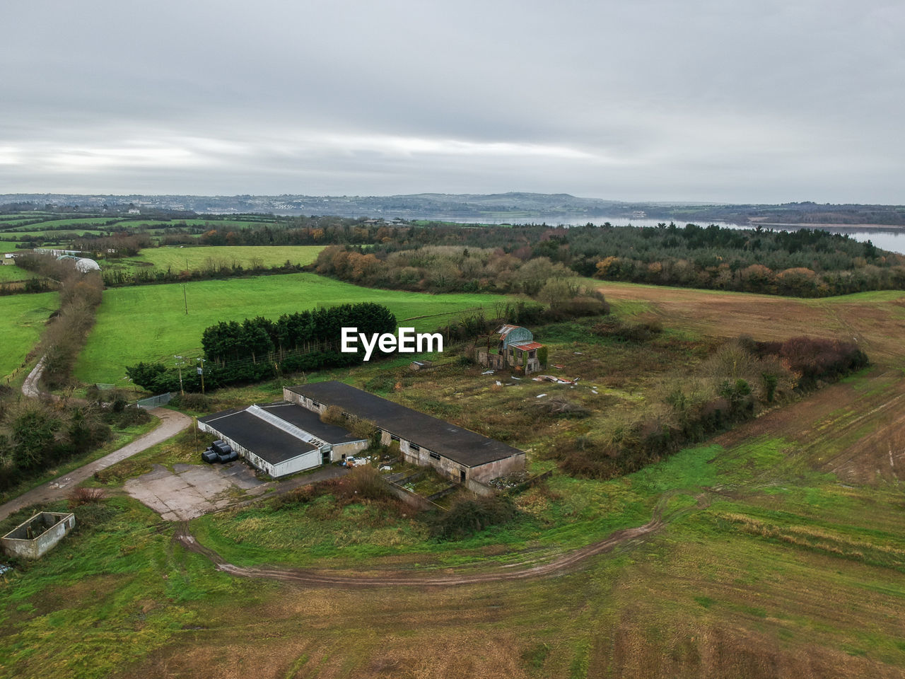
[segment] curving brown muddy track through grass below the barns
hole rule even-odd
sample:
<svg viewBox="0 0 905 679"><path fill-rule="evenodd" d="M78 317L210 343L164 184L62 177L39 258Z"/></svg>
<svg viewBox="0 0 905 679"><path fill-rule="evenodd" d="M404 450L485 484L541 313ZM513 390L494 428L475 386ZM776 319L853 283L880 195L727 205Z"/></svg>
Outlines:
<svg viewBox="0 0 905 679"><path fill-rule="evenodd" d="M543 578L567 572L569 569L573 569L586 559L612 551L619 545L631 540L642 539L659 531L668 521L671 521L677 516L704 508L710 504L708 493L700 493L700 489L697 489L695 492L698 493L696 495L698 500L697 506L671 512L669 517L664 517L669 500L677 493L689 492L680 490L664 493L653 508L651 521L643 524L643 526L614 531L604 540L599 540L586 547L567 552L546 563L534 565L525 562L513 563L480 573L456 573L450 572L451 569L444 569L445 572L443 575L436 575L431 572L414 574L402 570L386 570L378 575L375 575L373 571L370 573L348 575L346 573L331 572L329 569L286 569L274 567L246 568L227 562L214 550L205 547L198 542L198 540L195 540L195 536L193 536L189 530L188 521L182 521L178 525L176 532L173 535L173 541L183 545L186 550L201 554L209 559L214 563L217 570L222 570L224 573L229 573L230 575L239 578L273 579L282 582L297 582L305 585L320 585L336 588L455 587L459 585L474 585L486 582Z"/></svg>

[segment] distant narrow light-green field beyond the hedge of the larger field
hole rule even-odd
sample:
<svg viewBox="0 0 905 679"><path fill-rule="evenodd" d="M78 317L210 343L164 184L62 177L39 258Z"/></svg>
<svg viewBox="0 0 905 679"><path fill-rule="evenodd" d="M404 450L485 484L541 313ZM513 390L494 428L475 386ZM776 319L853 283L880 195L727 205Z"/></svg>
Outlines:
<svg viewBox="0 0 905 679"><path fill-rule="evenodd" d="M211 265L241 264L243 267L251 266L255 261L262 266L280 266L283 263L306 265L317 259L318 253L323 250L321 245L210 245L203 247L159 247L147 248L138 254L138 257L130 257L125 260L108 260L107 266L125 264L146 265L153 264L158 269L171 269L173 271L195 271L205 269ZM104 267L105 262L100 263Z"/></svg>

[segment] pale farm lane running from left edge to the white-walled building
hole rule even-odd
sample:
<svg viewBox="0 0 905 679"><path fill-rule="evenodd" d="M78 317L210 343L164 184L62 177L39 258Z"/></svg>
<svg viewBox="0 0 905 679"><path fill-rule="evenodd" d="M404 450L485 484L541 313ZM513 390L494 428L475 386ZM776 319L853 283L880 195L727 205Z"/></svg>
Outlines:
<svg viewBox="0 0 905 679"><path fill-rule="evenodd" d="M23 507L38 502L52 502L65 497L71 489L87 479L91 474L116 464L120 460L125 460L136 453L147 450L152 445L157 445L161 441L166 441L170 436L174 436L188 426L192 425L192 418L176 412L176 410L167 410L167 408L154 408L149 411L151 415L160 418L160 424L148 432L146 435L139 436L135 441L128 445L124 445L119 450L115 450L110 454L106 454L100 459L89 464L85 464L78 469L72 470L65 474L62 478L53 479L37 488L33 488L28 493L23 493L19 497L5 502L0 505L0 521L3 521L13 512L17 512Z"/></svg>

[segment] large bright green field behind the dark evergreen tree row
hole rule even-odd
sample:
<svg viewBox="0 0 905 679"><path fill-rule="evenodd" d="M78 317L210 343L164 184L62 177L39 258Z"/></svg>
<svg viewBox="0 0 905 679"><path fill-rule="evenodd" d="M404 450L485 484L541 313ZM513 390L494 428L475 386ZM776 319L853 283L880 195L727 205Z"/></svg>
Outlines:
<svg viewBox="0 0 905 679"><path fill-rule="evenodd" d="M185 252L185 251L181 251ZM479 306L491 308L499 295L397 292L360 288L313 273L292 273L183 286L143 285L104 292L97 324L75 368L85 382L119 383L125 367L139 360L172 359L201 348L201 333L221 320L253 316L275 319L283 313L356 301L386 304L405 319L449 314ZM434 330L446 316L413 320L418 330Z"/></svg>

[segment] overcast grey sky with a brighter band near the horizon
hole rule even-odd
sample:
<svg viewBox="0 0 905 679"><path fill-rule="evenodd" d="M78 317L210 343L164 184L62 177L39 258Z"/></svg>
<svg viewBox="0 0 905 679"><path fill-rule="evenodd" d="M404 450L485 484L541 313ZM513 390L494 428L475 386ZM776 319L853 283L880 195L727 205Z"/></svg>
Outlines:
<svg viewBox="0 0 905 679"><path fill-rule="evenodd" d="M905 3L33 0L0 194L905 203Z"/></svg>

